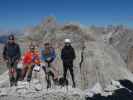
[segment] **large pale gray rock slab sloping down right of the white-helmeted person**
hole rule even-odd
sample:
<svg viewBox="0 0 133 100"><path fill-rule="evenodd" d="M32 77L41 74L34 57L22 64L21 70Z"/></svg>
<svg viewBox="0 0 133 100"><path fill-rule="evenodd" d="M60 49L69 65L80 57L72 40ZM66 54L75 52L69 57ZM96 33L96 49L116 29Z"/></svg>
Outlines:
<svg viewBox="0 0 133 100"><path fill-rule="evenodd" d="M99 82L103 88L111 80L133 80L118 52L113 47L97 42L86 43L84 61L81 68L82 89L91 88Z"/></svg>

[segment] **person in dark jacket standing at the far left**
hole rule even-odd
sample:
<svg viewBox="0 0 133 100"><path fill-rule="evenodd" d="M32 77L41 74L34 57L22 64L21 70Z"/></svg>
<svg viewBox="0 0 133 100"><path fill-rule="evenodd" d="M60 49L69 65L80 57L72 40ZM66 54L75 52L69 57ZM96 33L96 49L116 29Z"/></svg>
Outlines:
<svg viewBox="0 0 133 100"><path fill-rule="evenodd" d="M3 58L9 69L10 86L17 86L17 64L21 58L20 47L15 42L14 35L8 37L8 42L4 46Z"/></svg>

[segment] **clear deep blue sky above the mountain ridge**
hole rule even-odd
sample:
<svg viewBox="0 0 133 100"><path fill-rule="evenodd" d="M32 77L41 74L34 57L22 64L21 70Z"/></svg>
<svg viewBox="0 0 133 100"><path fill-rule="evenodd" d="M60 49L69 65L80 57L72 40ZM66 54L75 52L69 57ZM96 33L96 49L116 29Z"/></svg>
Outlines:
<svg viewBox="0 0 133 100"><path fill-rule="evenodd" d="M59 22L133 28L133 0L0 0L0 29L23 29L46 16Z"/></svg>

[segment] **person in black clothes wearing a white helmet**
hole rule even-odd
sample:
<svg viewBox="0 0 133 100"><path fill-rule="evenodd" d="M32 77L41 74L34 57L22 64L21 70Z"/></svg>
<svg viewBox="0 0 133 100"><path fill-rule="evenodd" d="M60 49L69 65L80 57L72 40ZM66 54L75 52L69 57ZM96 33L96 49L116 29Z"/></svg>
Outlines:
<svg viewBox="0 0 133 100"><path fill-rule="evenodd" d="M65 46L61 51L61 59L63 61L63 67L64 67L64 79L66 79L67 70L69 69L72 81L73 81L73 87L76 87L75 79L74 79L74 72L73 72L73 61L76 58L75 51L73 47L71 46L71 40L65 39Z"/></svg>

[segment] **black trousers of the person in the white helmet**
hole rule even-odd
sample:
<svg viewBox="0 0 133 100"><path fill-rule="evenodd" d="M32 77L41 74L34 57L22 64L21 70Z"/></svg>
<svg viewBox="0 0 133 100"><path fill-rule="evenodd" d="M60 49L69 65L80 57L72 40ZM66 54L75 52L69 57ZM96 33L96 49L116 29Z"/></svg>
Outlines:
<svg viewBox="0 0 133 100"><path fill-rule="evenodd" d="M70 71L73 84L75 84L74 72L73 72L73 61L63 61L63 77L66 79L67 71Z"/></svg>

